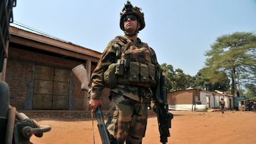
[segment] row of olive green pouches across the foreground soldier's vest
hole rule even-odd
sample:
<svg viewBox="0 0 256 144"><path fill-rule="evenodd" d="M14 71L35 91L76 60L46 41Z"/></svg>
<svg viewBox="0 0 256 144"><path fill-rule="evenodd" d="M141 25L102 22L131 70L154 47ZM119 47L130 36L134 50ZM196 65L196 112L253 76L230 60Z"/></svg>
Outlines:
<svg viewBox="0 0 256 144"><path fill-rule="evenodd" d="M114 88L117 84L134 85L139 87L155 87L156 68L148 63L130 62L128 71L124 70L123 60L112 63L104 72L104 85Z"/></svg>

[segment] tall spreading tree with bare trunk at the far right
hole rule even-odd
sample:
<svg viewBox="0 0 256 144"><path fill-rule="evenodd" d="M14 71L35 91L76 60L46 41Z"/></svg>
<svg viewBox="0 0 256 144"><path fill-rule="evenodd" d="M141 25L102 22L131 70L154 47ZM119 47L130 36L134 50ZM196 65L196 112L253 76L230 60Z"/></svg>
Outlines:
<svg viewBox="0 0 256 144"><path fill-rule="evenodd" d="M236 32L217 37L211 49L205 53L206 67L225 72L231 79L232 95L235 95L243 80L248 82L249 78L255 78L255 47L255 34Z"/></svg>

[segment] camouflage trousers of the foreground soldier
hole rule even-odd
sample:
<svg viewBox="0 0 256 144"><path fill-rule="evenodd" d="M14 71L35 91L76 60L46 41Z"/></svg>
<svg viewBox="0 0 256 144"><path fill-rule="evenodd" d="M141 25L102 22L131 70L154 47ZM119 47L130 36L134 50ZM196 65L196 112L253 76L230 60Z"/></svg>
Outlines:
<svg viewBox="0 0 256 144"><path fill-rule="evenodd" d="M142 143L148 119L147 110L148 103L112 94L106 123L110 136L116 140L111 143Z"/></svg>

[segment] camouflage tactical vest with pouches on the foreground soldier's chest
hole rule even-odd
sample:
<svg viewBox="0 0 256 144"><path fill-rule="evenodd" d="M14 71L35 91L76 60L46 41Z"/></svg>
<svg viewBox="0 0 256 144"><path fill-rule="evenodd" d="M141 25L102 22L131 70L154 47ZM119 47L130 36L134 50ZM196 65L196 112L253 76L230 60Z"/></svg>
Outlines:
<svg viewBox="0 0 256 144"><path fill-rule="evenodd" d="M123 36L120 39L123 46L117 53L116 63L111 64L104 73L104 81L111 84L105 86L114 88L116 84L133 85L139 87L154 87L156 81L156 66L152 63L153 53L146 43L142 47ZM115 70L114 70L115 69Z"/></svg>

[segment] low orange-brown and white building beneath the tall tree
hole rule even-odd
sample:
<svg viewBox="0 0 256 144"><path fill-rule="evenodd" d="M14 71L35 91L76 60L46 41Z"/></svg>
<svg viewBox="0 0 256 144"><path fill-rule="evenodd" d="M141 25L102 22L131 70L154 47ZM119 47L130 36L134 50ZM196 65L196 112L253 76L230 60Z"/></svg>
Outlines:
<svg viewBox="0 0 256 144"><path fill-rule="evenodd" d="M201 110L218 108L220 98L226 102L227 109L232 108L232 95L223 92L210 92L204 89L183 89L167 93L167 101L170 108L175 110Z"/></svg>

